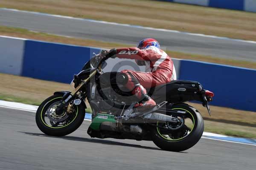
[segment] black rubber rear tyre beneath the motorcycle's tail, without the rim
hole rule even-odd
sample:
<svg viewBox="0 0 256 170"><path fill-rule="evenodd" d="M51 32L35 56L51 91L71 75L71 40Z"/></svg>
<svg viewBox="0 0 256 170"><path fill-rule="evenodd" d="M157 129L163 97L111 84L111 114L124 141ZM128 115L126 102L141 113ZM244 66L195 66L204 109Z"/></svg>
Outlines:
<svg viewBox="0 0 256 170"><path fill-rule="evenodd" d="M189 114L194 121L191 131L184 137L172 139L166 138L160 133L160 128L154 127L152 140L157 147L163 150L180 152L193 147L200 140L204 132L204 120L198 110L187 104L176 104L172 106L172 109L186 111L186 114Z"/></svg>

